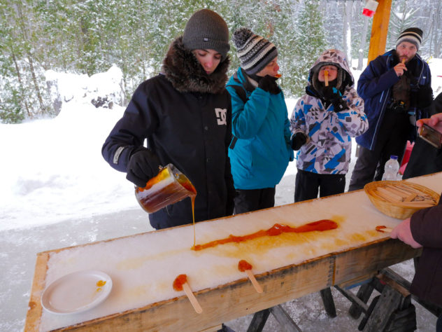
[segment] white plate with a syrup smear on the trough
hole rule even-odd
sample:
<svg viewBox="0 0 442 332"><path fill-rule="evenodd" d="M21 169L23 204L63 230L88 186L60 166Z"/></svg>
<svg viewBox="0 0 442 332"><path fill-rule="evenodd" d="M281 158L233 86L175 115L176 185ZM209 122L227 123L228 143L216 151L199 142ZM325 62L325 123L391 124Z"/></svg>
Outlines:
<svg viewBox="0 0 442 332"><path fill-rule="evenodd" d="M104 272L73 272L55 280L43 291L41 305L54 314L83 312L103 302L111 289L112 279Z"/></svg>

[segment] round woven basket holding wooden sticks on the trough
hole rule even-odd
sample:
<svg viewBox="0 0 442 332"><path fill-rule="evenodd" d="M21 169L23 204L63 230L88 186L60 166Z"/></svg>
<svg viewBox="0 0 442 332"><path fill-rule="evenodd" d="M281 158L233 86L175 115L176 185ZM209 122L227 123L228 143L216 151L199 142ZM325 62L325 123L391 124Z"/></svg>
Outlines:
<svg viewBox="0 0 442 332"><path fill-rule="evenodd" d="M374 181L366 184L364 191L376 209L387 216L397 219L407 219L416 211L434 206L439 202L438 193L425 186L407 181ZM390 191L390 194L387 191ZM413 195L416 195L413 200L422 201L407 202L407 192L415 193L408 197L410 200L413 198ZM402 201L397 199L401 195L400 193L404 193Z"/></svg>

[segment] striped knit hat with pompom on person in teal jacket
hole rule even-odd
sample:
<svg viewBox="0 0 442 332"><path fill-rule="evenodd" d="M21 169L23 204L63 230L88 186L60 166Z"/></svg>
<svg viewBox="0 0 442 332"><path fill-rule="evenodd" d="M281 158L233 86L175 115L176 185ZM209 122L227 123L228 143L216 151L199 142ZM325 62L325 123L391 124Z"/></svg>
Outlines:
<svg viewBox="0 0 442 332"><path fill-rule="evenodd" d="M278 50L273 43L247 28L237 29L233 41L238 51L241 68L247 74L258 73L278 56Z"/></svg>

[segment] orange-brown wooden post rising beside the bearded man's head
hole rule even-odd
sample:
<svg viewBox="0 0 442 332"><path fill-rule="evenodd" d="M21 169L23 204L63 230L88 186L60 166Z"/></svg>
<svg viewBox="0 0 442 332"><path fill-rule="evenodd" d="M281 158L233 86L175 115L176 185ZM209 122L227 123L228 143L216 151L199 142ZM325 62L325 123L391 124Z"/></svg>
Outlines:
<svg viewBox="0 0 442 332"><path fill-rule="evenodd" d="M378 3L378 8L373 17L373 25L371 26L368 62L385 53L385 45L387 44L392 0L378 0Z"/></svg>

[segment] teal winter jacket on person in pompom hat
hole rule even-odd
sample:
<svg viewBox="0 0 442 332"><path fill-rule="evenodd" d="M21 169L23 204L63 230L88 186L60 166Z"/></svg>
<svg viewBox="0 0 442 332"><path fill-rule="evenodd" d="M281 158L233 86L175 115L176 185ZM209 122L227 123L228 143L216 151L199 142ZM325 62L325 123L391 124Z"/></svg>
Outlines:
<svg viewBox="0 0 442 332"><path fill-rule="evenodd" d="M231 85L245 92L246 102ZM242 69L227 82L231 95L232 134L229 148L236 189L273 188L282 179L293 151L283 92L271 95L255 88Z"/></svg>

